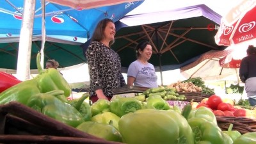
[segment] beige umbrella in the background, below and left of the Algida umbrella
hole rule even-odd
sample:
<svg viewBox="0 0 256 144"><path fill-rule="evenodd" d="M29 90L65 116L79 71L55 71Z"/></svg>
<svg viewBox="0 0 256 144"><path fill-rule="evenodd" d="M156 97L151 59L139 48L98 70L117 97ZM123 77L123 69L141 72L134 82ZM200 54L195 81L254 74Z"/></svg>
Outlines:
<svg viewBox="0 0 256 144"><path fill-rule="evenodd" d="M226 80L239 81L239 68L220 67L219 60L230 54L233 49L223 51L209 51L202 54L198 60L180 68L180 72L186 78L201 77L204 81Z"/></svg>

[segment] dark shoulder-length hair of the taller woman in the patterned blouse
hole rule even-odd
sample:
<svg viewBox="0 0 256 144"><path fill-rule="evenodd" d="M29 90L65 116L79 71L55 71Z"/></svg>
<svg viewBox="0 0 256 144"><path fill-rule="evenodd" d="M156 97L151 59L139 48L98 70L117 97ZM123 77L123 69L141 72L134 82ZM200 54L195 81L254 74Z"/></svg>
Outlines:
<svg viewBox="0 0 256 144"><path fill-rule="evenodd" d="M105 30L105 28L106 28L108 22L113 22L113 20L111 20L111 19L102 19L102 20L100 20L100 22L97 24L97 26L96 26L96 28L95 28L95 31L94 31L94 33L93 33L93 35L92 35L92 40L91 40L91 42L92 42L92 41L98 41L98 42L100 42L100 40L102 40L102 39L104 38L103 33L104 33L104 30ZM113 23L114 23L114 22L113 22ZM115 42L115 40L111 40L111 41L109 42L109 46L112 45L112 44L114 44L114 42Z"/></svg>

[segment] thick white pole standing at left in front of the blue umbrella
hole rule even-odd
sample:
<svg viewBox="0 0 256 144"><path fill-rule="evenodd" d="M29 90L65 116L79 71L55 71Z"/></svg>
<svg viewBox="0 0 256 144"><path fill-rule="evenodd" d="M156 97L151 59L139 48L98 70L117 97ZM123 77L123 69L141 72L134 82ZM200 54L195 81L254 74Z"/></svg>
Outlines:
<svg viewBox="0 0 256 144"><path fill-rule="evenodd" d="M30 77L32 35L35 16L35 0L24 0L22 26L20 29L17 78L24 81Z"/></svg>

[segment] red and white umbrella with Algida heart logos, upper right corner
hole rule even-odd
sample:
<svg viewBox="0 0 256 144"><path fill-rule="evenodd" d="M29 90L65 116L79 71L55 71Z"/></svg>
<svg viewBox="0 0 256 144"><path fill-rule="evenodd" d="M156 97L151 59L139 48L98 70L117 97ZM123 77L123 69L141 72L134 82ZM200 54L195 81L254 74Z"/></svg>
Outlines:
<svg viewBox="0 0 256 144"><path fill-rule="evenodd" d="M244 0L221 19L221 26L215 35L218 45L239 44L256 36L256 1Z"/></svg>

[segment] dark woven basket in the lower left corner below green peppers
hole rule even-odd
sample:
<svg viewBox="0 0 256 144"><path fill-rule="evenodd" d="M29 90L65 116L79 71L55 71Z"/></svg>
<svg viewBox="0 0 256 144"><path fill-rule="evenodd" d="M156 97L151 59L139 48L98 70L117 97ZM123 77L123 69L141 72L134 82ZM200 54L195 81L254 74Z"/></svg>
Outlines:
<svg viewBox="0 0 256 144"><path fill-rule="evenodd" d="M122 144L79 131L19 102L0 105L0 143Z"/></svg>

